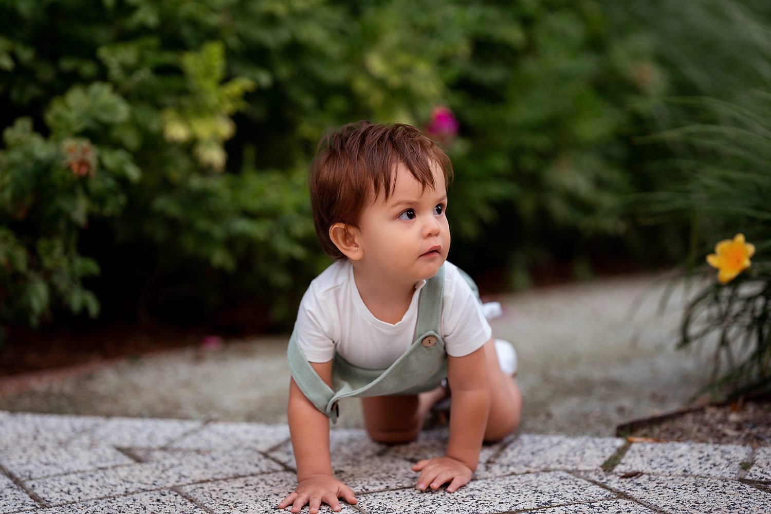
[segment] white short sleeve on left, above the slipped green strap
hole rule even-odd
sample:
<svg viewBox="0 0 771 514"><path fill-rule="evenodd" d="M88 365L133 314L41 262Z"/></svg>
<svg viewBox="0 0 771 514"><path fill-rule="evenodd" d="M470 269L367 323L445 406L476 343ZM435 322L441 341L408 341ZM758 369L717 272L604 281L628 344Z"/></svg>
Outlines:
<svg viewBox="0 0 771 514"><path fill-rule="evenodd" d="M302 297L295 322L297 343L310 362L326 362L335 356L332 338L332 317L324 303L318 301L313 285Z"/></svg>

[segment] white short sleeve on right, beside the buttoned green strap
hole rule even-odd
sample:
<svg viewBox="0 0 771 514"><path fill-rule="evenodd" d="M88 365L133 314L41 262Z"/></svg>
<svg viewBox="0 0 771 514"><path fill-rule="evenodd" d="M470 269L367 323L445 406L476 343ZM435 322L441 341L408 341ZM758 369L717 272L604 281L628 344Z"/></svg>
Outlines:
<svg viewBox="0 0 771 514"><path fill-rule="evenodd" d="M442 311L445 351L463 357L490 341L493 329L484 317L482 304L457 270L453 270Z"/></svg>

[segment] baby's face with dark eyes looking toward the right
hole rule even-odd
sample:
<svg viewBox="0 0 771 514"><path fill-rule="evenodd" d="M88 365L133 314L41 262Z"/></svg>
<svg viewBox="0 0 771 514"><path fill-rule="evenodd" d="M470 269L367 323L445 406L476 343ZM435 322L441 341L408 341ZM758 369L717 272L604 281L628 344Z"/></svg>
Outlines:
<svg viewBox="0 0 771 514"><path fill-rule="evenodd" d="M359 221L362 266L394 281L413 283L436 275L449 251L445 209L447 191L441 168L432 163L436 190L421 192L404 164L388 201L381 192Z"/></svg>

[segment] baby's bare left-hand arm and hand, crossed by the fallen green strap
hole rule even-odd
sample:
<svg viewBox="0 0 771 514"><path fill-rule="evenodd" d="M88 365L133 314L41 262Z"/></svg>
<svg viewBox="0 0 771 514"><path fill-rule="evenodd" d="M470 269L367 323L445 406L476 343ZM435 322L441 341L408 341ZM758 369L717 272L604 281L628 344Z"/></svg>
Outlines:
<svg viewBox="0 0 771 514"><path fill-rule="evenodd" d="M332 361L310 364L327 385L332 385ZM294 379L291 379L289 385L288 418L297 465L297 489L284 498L278 508L284 509L294 504L291 512L300 512L307 503L313 514L318 512L322 502L327 503L332 510L340 510L338 498L355 504L353 491L332 476L329 418L305 398Z"/></svg>

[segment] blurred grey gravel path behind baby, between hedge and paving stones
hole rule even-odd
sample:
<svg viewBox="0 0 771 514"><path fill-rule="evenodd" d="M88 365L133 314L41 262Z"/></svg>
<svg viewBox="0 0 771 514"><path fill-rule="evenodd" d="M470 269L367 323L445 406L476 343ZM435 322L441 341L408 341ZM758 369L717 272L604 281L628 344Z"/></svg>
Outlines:
<svg viewBox="0 0 771 514"><path fill-rule="evenodd" d="M503 304L494 334L512 341L519 355L523 432L611 436L622 422L686 404L706 378L709 352L675 350L684 292L676 288L658 313L662 277L490 298ZM187 348L5 381L0 409L285 423L287 339L227 341L217 351ZM357 401L342 403L341 414L342 428L362 427Z"/></svg>

